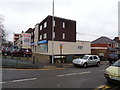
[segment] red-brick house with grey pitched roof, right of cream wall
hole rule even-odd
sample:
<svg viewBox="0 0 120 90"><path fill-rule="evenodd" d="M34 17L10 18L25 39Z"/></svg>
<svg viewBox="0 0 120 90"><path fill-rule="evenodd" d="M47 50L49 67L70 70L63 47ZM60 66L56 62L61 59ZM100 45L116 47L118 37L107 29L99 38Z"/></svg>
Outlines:
<svg viewBox="0 0 120 90"><path fill-rule="evenodd" d="M97 54L106 60L111 52L117 52L116 45L116 41L102 36L91 42L91 54Z"/></svg>

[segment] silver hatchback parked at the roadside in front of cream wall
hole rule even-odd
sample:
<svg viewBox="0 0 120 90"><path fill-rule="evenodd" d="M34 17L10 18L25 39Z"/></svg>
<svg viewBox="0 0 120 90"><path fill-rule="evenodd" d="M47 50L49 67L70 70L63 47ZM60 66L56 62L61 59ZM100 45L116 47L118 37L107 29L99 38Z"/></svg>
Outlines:
<svg viewBox="0 0 120 90"><path fill-rule="evenodd" d="M75 66L87 67L89 65L100 66L100 58L97 55L85 55L82 58L77 58L73 60Z"/></svg>

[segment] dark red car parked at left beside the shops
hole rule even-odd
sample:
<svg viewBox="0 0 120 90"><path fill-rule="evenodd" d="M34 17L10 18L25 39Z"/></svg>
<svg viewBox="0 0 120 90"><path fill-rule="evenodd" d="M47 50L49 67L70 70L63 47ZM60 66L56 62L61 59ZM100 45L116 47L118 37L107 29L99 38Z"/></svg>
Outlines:
<svg viewBox="0 0 120 90"><path fill-rule="evenodd" d="M23 57L31 57L32 56L32 50L28 48L19 48L17 50L14 50L11 52L12 56L23 56Z"/></svg>

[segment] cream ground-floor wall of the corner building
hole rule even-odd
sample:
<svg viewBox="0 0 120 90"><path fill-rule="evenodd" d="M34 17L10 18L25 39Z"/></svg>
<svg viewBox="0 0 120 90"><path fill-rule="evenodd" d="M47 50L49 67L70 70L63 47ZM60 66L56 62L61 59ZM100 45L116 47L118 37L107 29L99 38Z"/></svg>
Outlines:
<svg viewBox="0 0 120 90"><path fill-rule="evenodd" d="M91 54L90 42L61 42L54 41L54 55L60 55L60 44L62 44L63 55ZM39 48L37 48L39 50ZM37 51L38 52L38 51ZM48 52L40 54L52 55L52 41L48 41Z"/></svg>

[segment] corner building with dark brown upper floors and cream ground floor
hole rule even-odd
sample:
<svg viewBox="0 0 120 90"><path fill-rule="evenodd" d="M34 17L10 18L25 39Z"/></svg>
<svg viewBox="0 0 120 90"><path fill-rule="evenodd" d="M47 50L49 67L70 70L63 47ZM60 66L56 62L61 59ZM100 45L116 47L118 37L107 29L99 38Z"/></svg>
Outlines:
<svg viewBox="0 0 120 90"><path fill-rule="evenodd" d="M52 26L54 26L53 32ZM33 53L50 57L52 54L60 56L61 49L63 56L91 53L90 42L76 41L75 20L54 17L52 25L52 16L49 15L42 22L37 23L35 28L29 28L25 33L31 34L31 48ZM52 36L54 39L53 42ZM68 59L70 60L70 58Z"/></svg>

